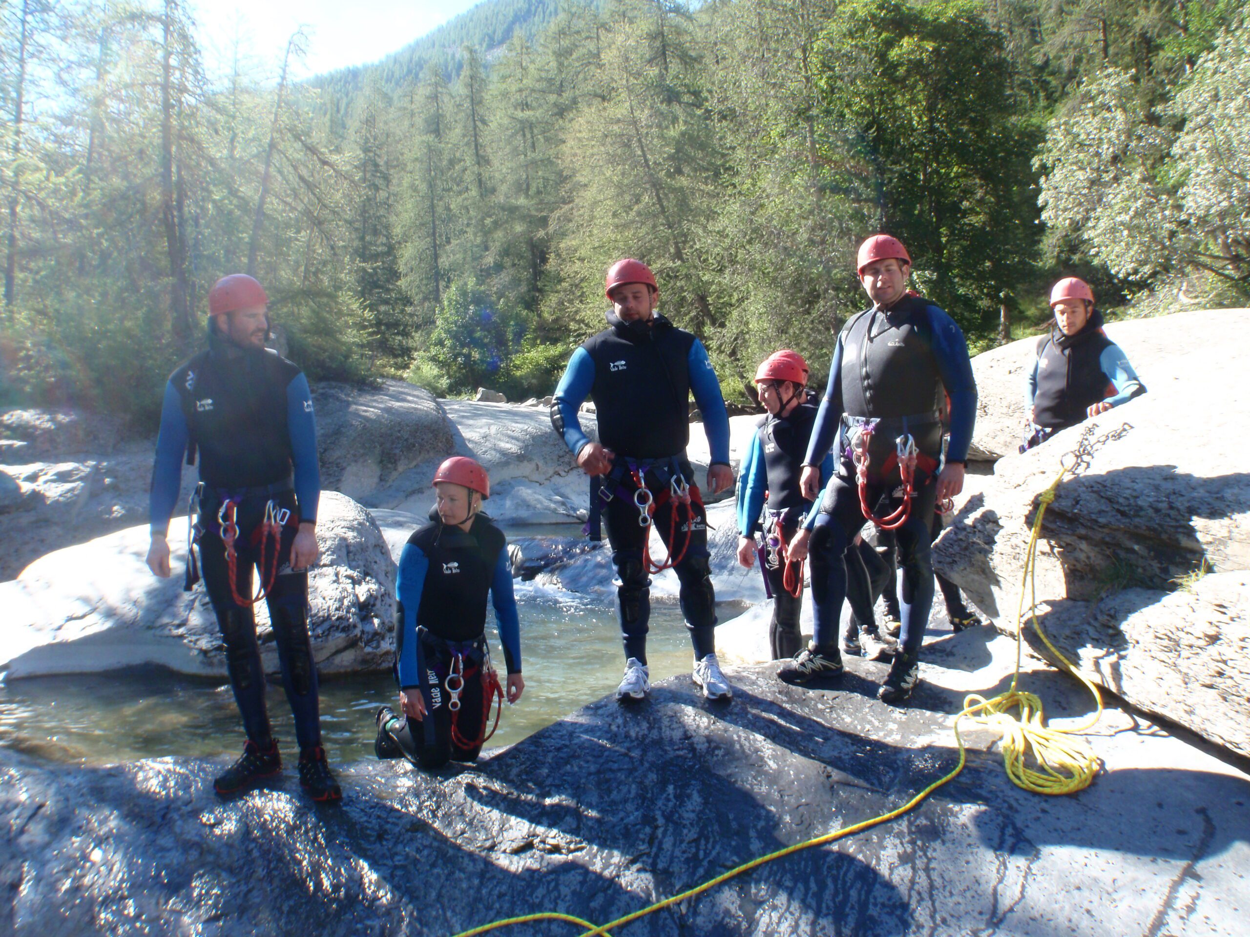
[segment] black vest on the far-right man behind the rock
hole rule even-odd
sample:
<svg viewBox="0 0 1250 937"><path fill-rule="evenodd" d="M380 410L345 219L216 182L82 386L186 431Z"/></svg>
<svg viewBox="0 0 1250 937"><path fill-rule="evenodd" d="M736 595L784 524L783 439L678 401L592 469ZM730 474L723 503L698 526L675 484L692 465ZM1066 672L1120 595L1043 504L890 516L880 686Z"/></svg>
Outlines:
<svg viewBox="0 0 1250 937"><path fill-rule="evenodd" d="M1038 391L1032 421L1048 430L1084 422L1089 407L1108 395L1111 384L1101 357L1111 340L1102 331L1102 315L1094 310L1076 335L1056 326L1038 342ZM1110 387L1115 392L1115 387Z"/></svg>

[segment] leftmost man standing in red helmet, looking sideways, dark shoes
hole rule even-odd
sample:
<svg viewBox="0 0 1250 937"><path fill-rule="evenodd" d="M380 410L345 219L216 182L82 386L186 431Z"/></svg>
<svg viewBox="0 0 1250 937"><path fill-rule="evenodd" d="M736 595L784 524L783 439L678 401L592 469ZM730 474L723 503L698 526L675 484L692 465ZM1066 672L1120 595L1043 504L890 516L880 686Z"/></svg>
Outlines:
<svg viewBox="0 0 1250 937"><path fill-rule="evenodd" d="M308 568L316 560L321 492L316 422L309 382L265 347L269 299L246 274L209 291L209 349L179 365L165 386L151 486L148 566L168 577L169 518L178 502L182 455L199 452L198 521L204 585L226 647L230 686L248 743L220 777L220 795L242 791L282 768L265 708L265 671L256 643L252 567L278 645L282 687L295 715L300 785L316 801L342 793L321 747L316 662L309 638ZM188 556L188 588L198 578Z"/></svg>

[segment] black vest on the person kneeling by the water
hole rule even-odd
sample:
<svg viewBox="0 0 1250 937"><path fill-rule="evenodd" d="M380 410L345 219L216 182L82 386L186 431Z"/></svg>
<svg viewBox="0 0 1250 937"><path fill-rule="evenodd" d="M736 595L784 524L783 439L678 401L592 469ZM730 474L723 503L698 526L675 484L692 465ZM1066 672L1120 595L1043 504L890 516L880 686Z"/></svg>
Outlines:
<svg viewBox="0 0 1250 937"><path fill-rule="evenodd" d="M502 531L479 513L468 533L434 521L418 528L408 542L430 561L416 623L444 641L481 637L495 563L508 545Z"/></svg>

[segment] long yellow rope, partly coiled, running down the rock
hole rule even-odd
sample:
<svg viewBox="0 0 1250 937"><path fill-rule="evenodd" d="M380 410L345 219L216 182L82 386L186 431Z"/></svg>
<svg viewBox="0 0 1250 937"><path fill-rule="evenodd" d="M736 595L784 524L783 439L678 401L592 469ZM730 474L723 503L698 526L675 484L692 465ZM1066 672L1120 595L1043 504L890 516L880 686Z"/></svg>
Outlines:
<svg viewBox="0 0 1250 937"><path fill-rule="evenodd" d="M1002 733L1002 762L1006 768L1008 777L1010 777L1012 783L1016 786L1034 793L1045 795L1076 793L1089 787L1089 785L1094 781L1094 776L1101 767L1101 762L1094 753L1092 748L1090 748L1089 743L1082 738L1076 738L1075 736L1088 732L1101 718L1102 696L1099 693L1098 687L1088 677L1078 672L1072 663L1055 648L1055 646L1050 642L1050 638L1048 638L1045 632L1041 630L1041 626L1038 622L1036 612L1038 595L1034 562L1038 555L1038 540L1041 535L1041 518L1046 513L1046 507L1054 502L1055 491L1060 482L1062 482L1069 475L1076 476L1081 471L1089 468L1095 451L1098 451L1106 442L1122 439L1124 435L1131 429L1132 426L1130 424L1124 424L1120 429L1111 430L1110 432L1100 436L1098 440L1091 441L1094 427L1086 427L1085 432L1081 435L1080 442L1076 445L1076 449L1069 454L1071 460L1068 461L1065 459L1061 462L1059 475L1055 476L1055 480L1050 483L1050 486L1039 496L1038 513L1034 516L1029 548L1025 555L1024 576L1020 582L1020 605L1016 608L1015 622L1016 663L1015 673L1011 678L1011 687L1005 693L1000 693L999 696L990 698L985 698L984 696L979 696L976 693L970 693L964 698L964 708L955 716L955 725L952 726L955 742L959 746L959 762L949 773L934 781L901 807L881 813L880 816L860 821L859 823L852 823L851 826L842 827L841 830L834 830L824 836L818 836L792 846L786 846L776 852L770 852L766 856L754 858L750 862L744 862L742 865L736 866L728 872L722 872L702 885L688 888L680 895L664 898L662 901L658 901L645 908L624 915L615 921L609 921L605 925L594 925L590 921L574 915L539 912L494 921L489 925L462 931L456 935L456 937L475 937L475 935L488 933L490 931L512 927L515 925L532 923L535 921L564 921L566 923L576 925L578 927L585 928L580 937L611 937L614 928L621 928L625 925L638 921L639 918L646 917L648 915L654 915L656 911L662 911L664 908L678 905L688 898L694 898L698 895L702 895L704 892L715 888L718 885L722 885L731 878L745 875L746 872L756 870L769 862L774 862L775 860L784 858L786 856L792 856L796 852L810 850L815 846L826 846L838 840L854 836L855 833L860 833L875 826L888 823L891 820L896 820L918 807L939 787L954 781L964 770L968 761L968 751L964 745L964 737L959 731L960 720L964 718L971 720L985 728L995 730ZM1055 728L1046 726L1041 712L1041 701L1035 695L1026 693L1022 690L1016 688L1020 680L1021 647L1024 645L1024 597L1026 591L1030 600L1029 618L1034 631L1038 632L1038 636L1045 642L1046 647L1062 665L1064 670L1084 683L1094 696L1096 703L1095 712L1089 720L1079 726L1071 728ZM1009 713L1009 710L1018 706L1020 707L1020 715L1019 717L1014 717ZM1032 760L1040 766L1040 770L1031 768L1026 765L1025 758L1030 750L1032 751Z"/></svg>

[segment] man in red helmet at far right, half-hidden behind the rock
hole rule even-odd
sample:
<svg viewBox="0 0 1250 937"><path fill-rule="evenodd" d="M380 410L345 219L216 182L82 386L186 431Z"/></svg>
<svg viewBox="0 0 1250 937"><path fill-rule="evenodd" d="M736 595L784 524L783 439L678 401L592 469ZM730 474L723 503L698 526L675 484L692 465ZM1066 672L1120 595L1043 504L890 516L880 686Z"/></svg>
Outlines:
<svg viewBox="0 0 1250 937"><path fill-rule="evenodd" d="M1038 341L1025 381L1021 452L1146 392L1129 356L1102 331L1089 284L1064 277L1050 290L1050 307L1055 325Z"/></svg>

